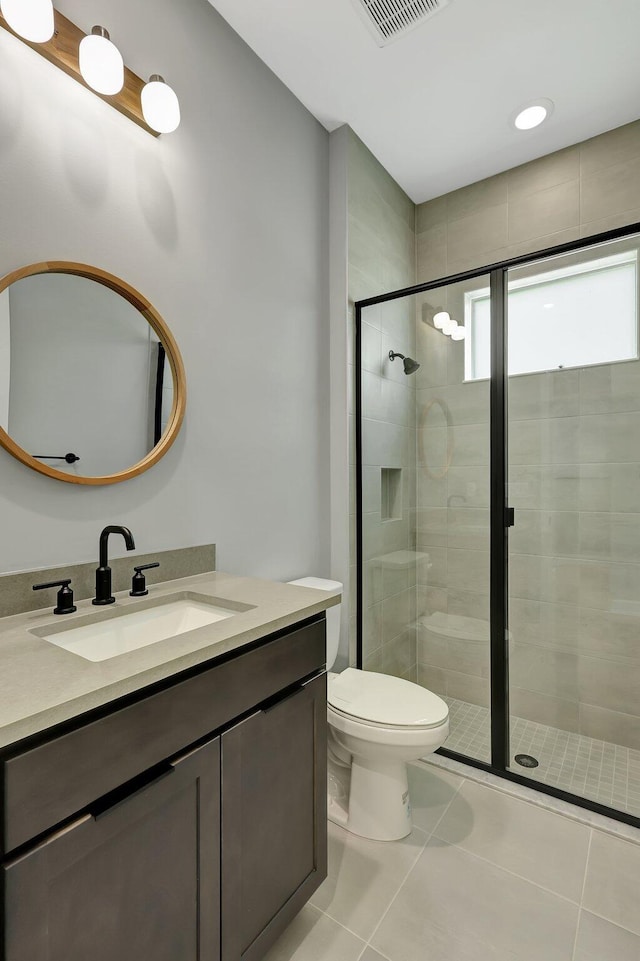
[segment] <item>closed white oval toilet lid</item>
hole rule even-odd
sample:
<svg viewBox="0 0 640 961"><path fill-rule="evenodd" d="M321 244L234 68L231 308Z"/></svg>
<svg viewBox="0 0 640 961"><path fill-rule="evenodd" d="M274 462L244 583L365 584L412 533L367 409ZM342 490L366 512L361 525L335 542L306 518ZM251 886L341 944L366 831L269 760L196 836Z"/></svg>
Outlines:
<svg viewBox="0 0 640 961"><path fill-rule="evenodd" d="M328 701L343 714L395 727L438 727L449 715L445 701L419 684L352 667L330 677Z"/></svg>

